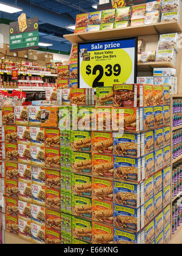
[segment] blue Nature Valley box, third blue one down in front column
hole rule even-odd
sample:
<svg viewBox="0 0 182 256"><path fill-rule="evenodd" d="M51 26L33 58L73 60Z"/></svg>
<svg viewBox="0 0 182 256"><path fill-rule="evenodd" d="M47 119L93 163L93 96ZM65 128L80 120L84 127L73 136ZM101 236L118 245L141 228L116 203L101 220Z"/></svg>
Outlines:
<svg viewBox="0 0 182 256"><path fill-rule="evenodd" d="M113 182L113 202L114 204L123 205L126 207L139 208L140 185Z"/></svg>

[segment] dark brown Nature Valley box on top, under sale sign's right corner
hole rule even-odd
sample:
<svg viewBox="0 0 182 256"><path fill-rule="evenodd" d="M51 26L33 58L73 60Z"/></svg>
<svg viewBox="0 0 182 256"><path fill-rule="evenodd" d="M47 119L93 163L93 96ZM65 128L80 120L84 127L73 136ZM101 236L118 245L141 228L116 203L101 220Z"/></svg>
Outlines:
<svg viewBox="0 0 182 256"><path fill-rule="evenodd" d="M114 107L136 107L137 85L113 85Z"/></svg>

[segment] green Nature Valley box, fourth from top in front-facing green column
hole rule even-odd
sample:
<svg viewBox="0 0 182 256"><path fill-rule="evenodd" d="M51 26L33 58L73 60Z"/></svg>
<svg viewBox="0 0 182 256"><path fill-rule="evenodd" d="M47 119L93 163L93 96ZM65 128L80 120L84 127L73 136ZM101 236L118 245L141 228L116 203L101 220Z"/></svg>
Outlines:
<svg viewBox="0 0 182 256"><path fill-rule="evenodd" d="M92 196L92 178L72 173L72 193L78 196Z"/></svg>

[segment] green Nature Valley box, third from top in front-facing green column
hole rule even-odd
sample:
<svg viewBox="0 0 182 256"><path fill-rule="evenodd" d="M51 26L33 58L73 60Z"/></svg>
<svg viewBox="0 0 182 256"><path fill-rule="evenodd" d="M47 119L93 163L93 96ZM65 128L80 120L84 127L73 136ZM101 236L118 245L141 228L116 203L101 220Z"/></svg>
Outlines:
<svg viewBox="0 0 182 256"><path fill-rule="evenodd" d="M72 151L72 171L91 174L92 154Z"/></svg>

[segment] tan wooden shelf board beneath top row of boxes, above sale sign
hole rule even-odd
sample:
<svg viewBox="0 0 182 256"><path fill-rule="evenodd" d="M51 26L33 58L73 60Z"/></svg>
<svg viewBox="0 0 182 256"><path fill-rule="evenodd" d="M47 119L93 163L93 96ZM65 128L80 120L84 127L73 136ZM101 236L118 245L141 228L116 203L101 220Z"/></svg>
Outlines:
<svg viewBox="0 0 182 256"><path fill-rule="evenodd" d="M71 43L83 43L84 41L98 41L121 37L174 33L181 32L181 30L181 25L177 21L170 21L166 23L155 23L143 26L123 27L121 29L69 34L64 35L64 38L69 40Z"/></svg>

